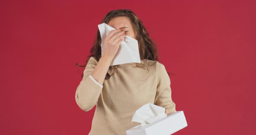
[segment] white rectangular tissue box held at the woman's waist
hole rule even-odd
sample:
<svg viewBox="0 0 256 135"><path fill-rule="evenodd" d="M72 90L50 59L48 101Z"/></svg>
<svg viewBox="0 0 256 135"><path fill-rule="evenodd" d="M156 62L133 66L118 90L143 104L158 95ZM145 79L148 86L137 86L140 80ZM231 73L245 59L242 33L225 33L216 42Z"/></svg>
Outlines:
<svg viewBox="0 0 256 135"><path fill-rule="evenodd" d="M183 111L173 112L167 117L141 127L126 130L126 135L171 135L187 126ZM137 128L138 127L138 128Z"/></svg>

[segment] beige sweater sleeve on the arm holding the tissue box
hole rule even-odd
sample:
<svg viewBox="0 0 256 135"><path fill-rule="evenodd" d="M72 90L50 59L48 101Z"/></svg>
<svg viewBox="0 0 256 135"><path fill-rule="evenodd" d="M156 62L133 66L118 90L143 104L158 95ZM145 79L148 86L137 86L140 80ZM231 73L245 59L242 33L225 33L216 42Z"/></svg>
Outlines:
<svg viewBox="0 0 256 135"><path fill-rule="evenodd" d="M171 98L171 80L163 64L157 62L157 92L154 104L164 107L167 112L177 112Z"/></svg>

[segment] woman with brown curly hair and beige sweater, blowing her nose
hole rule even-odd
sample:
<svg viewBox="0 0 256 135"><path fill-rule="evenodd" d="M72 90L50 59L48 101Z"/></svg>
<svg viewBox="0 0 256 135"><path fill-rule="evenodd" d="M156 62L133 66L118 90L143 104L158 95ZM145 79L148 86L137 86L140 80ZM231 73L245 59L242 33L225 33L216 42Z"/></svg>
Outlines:
<svg viewBox="0 0 256 135"><path fill-rule="evenodd" d="M176 112L170 78L164 65L158 62L156 45L141 20L131 10L113 10L102 23L116 30L105 38L102 56L98 30L75 92L75 101L82 110L89 111L96 105L89 135L126 135L126 130L140 124L131 119L146 103L164 107L167 114ZM110 66L124 35L138 40L141 63Z"/></svg>

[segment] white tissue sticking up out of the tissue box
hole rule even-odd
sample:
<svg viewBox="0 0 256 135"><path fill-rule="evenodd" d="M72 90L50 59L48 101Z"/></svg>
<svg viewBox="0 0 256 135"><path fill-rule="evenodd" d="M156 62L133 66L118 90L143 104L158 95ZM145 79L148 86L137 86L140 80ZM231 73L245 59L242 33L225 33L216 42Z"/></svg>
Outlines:
<svg viewBox="0 0 256 135"><path fill-rule="evenodd" d="M152 103L147 103L135 111L131 122L141 123L140 125L134 127L138 128L140 126L151 124L166 117L167 114L165 113L164 107L157 106Z"/></svg>

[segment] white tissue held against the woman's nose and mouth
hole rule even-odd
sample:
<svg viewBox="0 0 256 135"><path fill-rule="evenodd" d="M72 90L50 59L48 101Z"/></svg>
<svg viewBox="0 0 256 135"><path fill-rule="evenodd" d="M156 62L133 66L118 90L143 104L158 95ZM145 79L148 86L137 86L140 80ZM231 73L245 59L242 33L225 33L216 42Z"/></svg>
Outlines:
<svg viewBox="0 0 256 135"><path fill-rule="evenodd" d="M103 55L105 37L109 34L109 32L115 30L115 28L109 26L106 23L101 23L98 25L98 29L100 31L102 39L101 51ZM124 37L125 40L121 42L119 49L115 57L113 58L110 66L132 62L141 63L138 41L128 35L125 35Z"/></svg>

